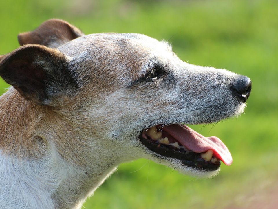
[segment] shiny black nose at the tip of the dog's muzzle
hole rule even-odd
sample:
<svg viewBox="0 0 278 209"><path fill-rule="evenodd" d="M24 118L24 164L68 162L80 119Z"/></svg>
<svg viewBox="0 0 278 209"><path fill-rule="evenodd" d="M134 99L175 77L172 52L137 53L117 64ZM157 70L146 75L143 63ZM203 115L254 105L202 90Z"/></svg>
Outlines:
<svg viewBox="0 0 278 209"><path fill-rule="evenodd" d="M232 89L240 100L246 102L251 92L250 78L240 75L235 79Z"/></svg>

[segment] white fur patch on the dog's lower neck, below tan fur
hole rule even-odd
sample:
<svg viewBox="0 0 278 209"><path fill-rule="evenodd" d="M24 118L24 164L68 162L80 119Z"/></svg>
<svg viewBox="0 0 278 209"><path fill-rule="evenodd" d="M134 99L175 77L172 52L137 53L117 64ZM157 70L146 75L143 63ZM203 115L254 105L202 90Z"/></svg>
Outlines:
<svg viewBox="0 0 278 209"><path fill-rule="evenodd" d="M0 208L54 208L51 196L63 179L60 167L54 152L43 160L19 160L0 153Z"/></svg>

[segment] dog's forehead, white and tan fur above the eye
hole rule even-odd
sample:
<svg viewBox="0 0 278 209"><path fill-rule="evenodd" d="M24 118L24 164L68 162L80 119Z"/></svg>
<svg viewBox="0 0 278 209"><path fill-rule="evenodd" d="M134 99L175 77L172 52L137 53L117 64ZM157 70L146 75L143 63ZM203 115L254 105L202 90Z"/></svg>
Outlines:
<svg viewBox="0 0 278 209"><path fill-rule="evenodd" d="M121 83L127 83L123 80L137 80L153 66L154 61L164 62L173 57L167 42L136 33L90 34L58 49L72 57L74 71L82 82L98 78L110 84L117 79Z"/></svg>

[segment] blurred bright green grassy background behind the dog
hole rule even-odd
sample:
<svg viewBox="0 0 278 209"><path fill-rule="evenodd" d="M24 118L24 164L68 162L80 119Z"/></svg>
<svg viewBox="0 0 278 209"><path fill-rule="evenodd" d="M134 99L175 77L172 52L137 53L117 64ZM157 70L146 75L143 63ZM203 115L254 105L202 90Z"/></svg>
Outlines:
<svg viewBox="0 0 278 209"><path fill-rule="evenodd" d="M61 18L85 34L143 33L169 40L185 61L247 75L245 114L215 126L231 166L213 179L183 176L144 159L125 163L87 199L90 208L275 208L278 204L278 1L276 0L21 0L0 2L0 54L19 46L17 34ZM8 85L0 81L0 94Z"/></svg>

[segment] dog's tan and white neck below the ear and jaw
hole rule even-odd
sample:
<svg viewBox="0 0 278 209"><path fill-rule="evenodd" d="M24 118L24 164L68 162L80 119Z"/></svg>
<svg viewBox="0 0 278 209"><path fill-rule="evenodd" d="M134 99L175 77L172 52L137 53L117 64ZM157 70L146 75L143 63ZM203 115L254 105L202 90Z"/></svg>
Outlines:
<svg viewBox="0 0 278 209"><path fill-rule="evenodd" d="M103 152L104 143L88 143L82 124L78 129L67 116L34 105L12 87L0 98L0 118L0 202L7 206L80 208L119 164L112 149ZM10 188L15 191L5 192ZM17 201L22 194L28 198Z"/></svg>

